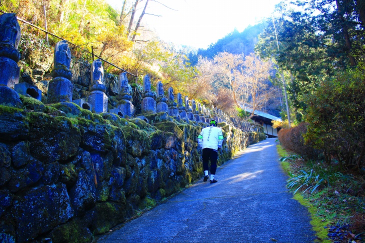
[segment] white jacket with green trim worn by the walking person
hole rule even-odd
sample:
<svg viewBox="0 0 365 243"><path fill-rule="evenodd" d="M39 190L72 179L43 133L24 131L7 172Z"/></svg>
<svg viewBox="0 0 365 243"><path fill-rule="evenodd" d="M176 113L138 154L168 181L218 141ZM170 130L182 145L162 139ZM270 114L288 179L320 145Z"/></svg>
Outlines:
<svg viewBox="0 0 365 243"><path fill-rule="evenodd" d="M223 143L222 129L215 126L203 128L197 137L197 143L202 148L208 147L217 150Z"/></svg>

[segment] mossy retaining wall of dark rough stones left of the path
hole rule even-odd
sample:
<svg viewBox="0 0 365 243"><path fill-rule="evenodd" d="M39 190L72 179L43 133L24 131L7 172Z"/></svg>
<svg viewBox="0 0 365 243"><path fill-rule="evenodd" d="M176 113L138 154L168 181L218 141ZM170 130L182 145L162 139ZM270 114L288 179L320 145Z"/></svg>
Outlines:
<svg viewBox="0 0 365 243"><path fill-rule="evenodd" d="M124 119L20 96L0 105L0 241L90 242L200 178L204 123ZM222 122L218 164L258 136Z"/></svg>

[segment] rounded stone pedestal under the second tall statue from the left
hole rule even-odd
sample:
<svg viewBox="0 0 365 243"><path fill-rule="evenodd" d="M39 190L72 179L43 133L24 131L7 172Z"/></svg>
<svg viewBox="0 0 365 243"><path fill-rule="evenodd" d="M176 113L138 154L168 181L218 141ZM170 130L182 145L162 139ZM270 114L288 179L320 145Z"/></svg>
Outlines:
<svg viewBox="0 0 365 243"><path fill-rule="evenodd" d="M47 102L72 102L73 84L65 77L54 77L48 85Z"/></svg>

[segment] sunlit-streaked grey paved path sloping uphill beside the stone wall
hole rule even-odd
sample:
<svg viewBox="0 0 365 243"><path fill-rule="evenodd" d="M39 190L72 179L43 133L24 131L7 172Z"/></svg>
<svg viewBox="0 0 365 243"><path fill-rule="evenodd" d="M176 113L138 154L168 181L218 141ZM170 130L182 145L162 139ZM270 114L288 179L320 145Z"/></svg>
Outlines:
<svg viewBox="0 0 365 243"><path fill-rule="evenodd" d="M307 209L285 188L274 138L250 145L98 242L313 242Z"/></svg>

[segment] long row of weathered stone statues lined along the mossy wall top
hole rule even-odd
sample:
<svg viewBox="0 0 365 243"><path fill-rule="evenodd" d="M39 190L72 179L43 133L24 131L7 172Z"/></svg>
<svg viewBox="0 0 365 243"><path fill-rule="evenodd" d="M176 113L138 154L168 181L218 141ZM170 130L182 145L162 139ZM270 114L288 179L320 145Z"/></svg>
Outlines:
<svg viewBox="0 0 365 243"><path fill-rule="evenodd" d="M41 98L41 91L26 82L19 83L20 69L17 62L20 53L17 50L20 39L20 27L13 13L5 13L0 16L0 85L14 89L20 94L28 94L36 99ZM90 94L87 100L72 100L73 84L70 81L72 73L70 71L71 52L65 40L59 41L54 48L54 68L51 71L52 79L48 85L47 103L74 102L81 108L89 109L95 113L107 112L106 86L103 82L103 66L100 59L94 60L91 64L91 85ZM128 84L126 73L119 74L118 78L118 99L116 107L109 112L121 117L134 116L134 108L131 102L131 86ZM220 109L211 110L204 105L189 100L187 96L182 99L181 93L177 93L177 102L172 87L168 88L167 97L164 95L162 82L157 82L156 92L151 90L149 75L143 77L143 95L141 101L142 113L167 112L177 120L186 122L209 122L215 119L218 122L231 120L228 115ZM242 122L237 122L240 128ZM248 126L247 126L247 129Z"/></svg>

